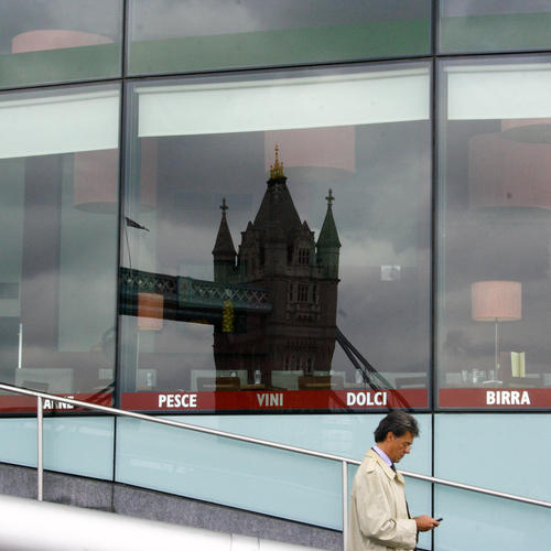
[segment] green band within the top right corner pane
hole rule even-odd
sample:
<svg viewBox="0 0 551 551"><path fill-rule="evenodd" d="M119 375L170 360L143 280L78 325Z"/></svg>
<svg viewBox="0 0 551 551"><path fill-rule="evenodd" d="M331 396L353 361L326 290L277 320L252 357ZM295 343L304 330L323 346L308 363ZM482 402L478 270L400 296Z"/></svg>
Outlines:
<svg viewBox="0 0 551 551"><path fill-rule="evenodd" d="M440 52L518 52L551 46L551 13L443 18Z"/></svg>

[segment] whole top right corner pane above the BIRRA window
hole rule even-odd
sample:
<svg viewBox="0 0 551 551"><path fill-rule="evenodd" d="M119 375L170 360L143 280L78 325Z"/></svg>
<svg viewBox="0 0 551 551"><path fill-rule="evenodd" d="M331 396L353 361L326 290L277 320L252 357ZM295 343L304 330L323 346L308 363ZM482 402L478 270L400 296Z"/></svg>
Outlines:
<svg viewBox="0 0 551 551"><path fill-rule="evenodd" d="M440 52L549 50L547 0L440 1Z"/></svg>

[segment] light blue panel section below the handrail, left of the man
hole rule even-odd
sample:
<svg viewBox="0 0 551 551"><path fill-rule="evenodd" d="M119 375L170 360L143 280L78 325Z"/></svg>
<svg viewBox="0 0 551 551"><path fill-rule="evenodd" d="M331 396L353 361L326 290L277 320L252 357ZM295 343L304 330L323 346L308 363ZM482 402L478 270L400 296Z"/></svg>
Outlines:
<svg viewBox="0 0 551 551"><path fill-rule="evenodd" d="M341 464L121 419L116 480L339 529Z"/></svg>

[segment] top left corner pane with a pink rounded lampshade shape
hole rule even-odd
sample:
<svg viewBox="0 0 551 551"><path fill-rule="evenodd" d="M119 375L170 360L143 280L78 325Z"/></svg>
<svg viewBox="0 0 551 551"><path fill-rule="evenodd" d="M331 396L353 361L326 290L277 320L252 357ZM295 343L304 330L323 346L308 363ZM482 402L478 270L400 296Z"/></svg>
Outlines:
<svg viewBox="0 0 551 551"><path fill-rule="evenodd" d="M121 0L0 2L0 86L120 75Z"/></svg>

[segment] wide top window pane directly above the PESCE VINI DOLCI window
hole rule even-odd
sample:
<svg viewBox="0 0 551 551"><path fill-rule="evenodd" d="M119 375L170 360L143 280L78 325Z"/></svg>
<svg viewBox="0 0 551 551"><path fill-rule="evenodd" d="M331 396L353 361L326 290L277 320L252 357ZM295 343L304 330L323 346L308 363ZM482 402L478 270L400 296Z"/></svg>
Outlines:
<svg viewBox="0 0 551 551"><path fill-rule="evenodd" d="M131 0L129 73L430 53L430 1Z"/></svg>

